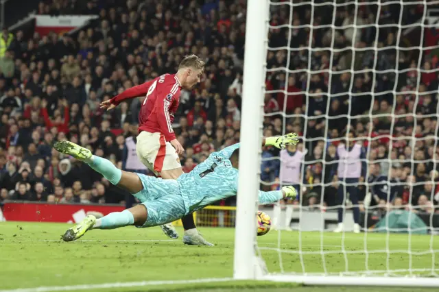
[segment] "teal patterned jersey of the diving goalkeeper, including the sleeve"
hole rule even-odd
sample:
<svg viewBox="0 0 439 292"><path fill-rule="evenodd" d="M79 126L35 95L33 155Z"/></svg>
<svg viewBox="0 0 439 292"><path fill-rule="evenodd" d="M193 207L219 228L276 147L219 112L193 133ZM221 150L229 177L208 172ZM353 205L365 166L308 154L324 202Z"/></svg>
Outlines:
<svg viewBox="0 0 439 292"><path fill-rule="evenodd" d="M177 181L187 213L236 195L238 170L232 167L229 158L237 148L239 148L239 143L213 152L193 171L180 175ZM261 204L273 203L281 198L280 191L259 191L259 203Z"/></svg>

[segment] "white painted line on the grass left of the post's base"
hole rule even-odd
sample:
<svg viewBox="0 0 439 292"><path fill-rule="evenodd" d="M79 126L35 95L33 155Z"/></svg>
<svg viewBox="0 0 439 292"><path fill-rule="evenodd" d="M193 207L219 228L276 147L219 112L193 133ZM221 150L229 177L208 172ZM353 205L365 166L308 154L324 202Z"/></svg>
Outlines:
<svg viewBox="0 0 439 292"><path fill-rule="evenodd" d="M91 289L112 289L112 288L127 288L127 287L144 287L154 285L166 284L198 284L209 282L228 282L232 278L213 278L213 279L197 279L197 280L176 280L176 281L143 281L143 282L116 282L103 284L83 284L73 286L52 286L52 287L34 287L12 290L0 290L0 292L51 292L51 291L78 291Z"/></svg>

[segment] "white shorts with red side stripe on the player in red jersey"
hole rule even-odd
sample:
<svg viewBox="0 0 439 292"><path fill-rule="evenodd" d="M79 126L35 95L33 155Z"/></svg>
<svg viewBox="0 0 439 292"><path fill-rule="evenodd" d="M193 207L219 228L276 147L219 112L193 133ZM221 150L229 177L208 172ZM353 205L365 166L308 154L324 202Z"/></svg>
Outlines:
<svg viewBox="0 0 439 292"><path fill-rule="evenodd" d="M171 143L161 133L142 131L137 136L137 156L155 175L162 171L181 167L180 158Z"/></svg>

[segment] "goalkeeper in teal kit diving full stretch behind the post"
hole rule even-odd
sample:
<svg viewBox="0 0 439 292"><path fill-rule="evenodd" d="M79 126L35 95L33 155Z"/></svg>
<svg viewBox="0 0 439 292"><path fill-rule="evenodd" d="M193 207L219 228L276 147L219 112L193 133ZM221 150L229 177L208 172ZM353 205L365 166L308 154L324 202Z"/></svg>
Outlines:
<svg viewBox="0 0 439 292"><path fill-rule="evenodd" d="M296 145L297 134L269 137L263 145L283 148ZM117 169L112 162L94 156L91 151L69 141L55 143L54 148L64 154L86 162L92 169L104 175L108 181L126 189L141 204L122 212L112 212L101 219L88 215L77 226L62 236L64 241L79 239L90 229L114 229L123 226L160 226L184 217L212 204L219 199L236 195L238 188L239 143L213 152L193 171L183 173L177 180L162 180ZM296 189L284 186L281 191L259 191L259 202L269 204L284 197L296 197Z"/></svg>

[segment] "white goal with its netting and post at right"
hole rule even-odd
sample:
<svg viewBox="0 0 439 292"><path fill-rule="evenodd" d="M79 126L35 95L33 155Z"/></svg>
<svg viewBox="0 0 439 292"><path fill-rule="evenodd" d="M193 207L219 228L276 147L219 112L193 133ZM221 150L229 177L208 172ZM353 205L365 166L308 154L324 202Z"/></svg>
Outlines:
<svg viewBox="0 0 439 292"><path fill-rule="evenodd" d="M300 196L259 206L277 230L237 239L237 252L255 243L268 279L439 286L439 1L252 2L242 146L253 149L244 135L261 125L264 136L297 132L301 143L263 149L261 168L242 167L248 158L240 158L239 186L253 187L258 175L265 190L293 184ZM250 87L258 74L262 90ZM264 114L250 123L259 109L246 99L255 103L256 90ZM254 195L242 190L237 237L252 217L245 213L255 211ZM238 258L235 278L252 278L242 276Z"/></svg>

